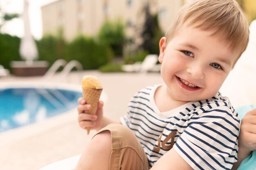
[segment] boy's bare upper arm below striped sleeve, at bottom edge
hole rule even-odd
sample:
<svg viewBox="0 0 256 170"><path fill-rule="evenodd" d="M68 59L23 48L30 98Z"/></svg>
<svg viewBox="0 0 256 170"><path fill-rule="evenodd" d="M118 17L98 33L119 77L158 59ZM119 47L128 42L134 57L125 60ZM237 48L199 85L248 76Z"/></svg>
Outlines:
<svg viewBox="0 0 256 170"><path fill-rule="evenodd" d="M164 154L150 170L193 170L174 148Z"/></svg>

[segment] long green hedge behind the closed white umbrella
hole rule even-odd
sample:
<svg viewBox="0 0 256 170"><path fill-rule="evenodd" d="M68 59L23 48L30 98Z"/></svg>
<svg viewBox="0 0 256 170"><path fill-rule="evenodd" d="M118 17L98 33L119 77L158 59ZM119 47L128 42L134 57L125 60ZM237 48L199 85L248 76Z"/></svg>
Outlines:
<svg viewBox="0 0 256 170"><path fill-rule="evenodd" d="M93 38L79 36L67 43L63 38L45 36L36 41L39 60L46 60L51 66L57 59L78 60L84 69L98 69L109 63L113 52L108 45L103 45ZM19 55L20 38L0 34L0 64L10 69L10 62L22 60Z"/></svg>

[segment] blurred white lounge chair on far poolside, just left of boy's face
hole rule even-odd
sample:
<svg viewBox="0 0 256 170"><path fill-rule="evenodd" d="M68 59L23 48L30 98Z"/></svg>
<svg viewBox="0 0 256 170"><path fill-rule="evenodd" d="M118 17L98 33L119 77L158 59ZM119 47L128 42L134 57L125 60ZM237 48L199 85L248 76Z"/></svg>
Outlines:
<svg viewBox="0 0 256 170"><path fill-rule="evenodd" d="M131 65L122 65L122 69L125 72L157 72L160 71L157 61L157 54L148 54L142 62L135 62Z"/></svg>

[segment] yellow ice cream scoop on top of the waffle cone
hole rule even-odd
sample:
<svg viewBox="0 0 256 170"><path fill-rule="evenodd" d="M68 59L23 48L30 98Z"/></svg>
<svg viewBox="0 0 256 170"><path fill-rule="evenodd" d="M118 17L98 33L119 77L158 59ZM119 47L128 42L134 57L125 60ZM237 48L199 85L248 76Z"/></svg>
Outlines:
<svg viewBox="0 0 256 170"><path fill-rule="evenodd" d="M102 89L99 78L95 76L83 76L82 87L91 89Z"/></svg>

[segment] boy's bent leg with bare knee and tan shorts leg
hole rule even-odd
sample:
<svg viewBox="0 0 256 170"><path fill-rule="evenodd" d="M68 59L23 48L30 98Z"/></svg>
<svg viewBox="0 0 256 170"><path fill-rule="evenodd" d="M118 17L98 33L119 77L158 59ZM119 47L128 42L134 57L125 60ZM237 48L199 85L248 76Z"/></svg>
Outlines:
<svg viewBox="0 0 256 170"><path fill-rule="evenodd" d="M97 137L97 138L95 138ZM94 138L96 139L96 143L93 143ZM110 140L109 140L110 138ZM110 141L110 142L109 142ZM97 148L97 152L92 155L82 154L81 159L79 160L79 164L77 169L79 169L79 165L83 165L88 169L110 169L110 170L148 170L148 160L146 154L144 153L141 144L136 138L133 132L126 128L124 125L120 124L110 124L100 130L90 142L91 145L86 149L89 152L93 152L93 148ZM108 147L109 146L109 147ZM110 148L111 147L111 148ZM91 151L90 151L91 150ZM83 159L83 156L85 156ZM88 157L91 157L92 165L89 167L88 165ZM102 162L99 161L100 160ZM96 164L104 164L102 168L96 168ZM108 163L107 163L108 162ZM97 165L98 166L98 165ZM86 168L83 167L84 170Z"/></svg>

